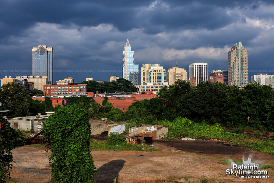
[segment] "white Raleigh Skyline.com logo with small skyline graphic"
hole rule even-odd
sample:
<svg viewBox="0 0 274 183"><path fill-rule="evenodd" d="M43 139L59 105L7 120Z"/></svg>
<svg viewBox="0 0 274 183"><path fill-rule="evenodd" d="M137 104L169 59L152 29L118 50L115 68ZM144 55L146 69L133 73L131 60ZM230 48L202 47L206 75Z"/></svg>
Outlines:
<svg viewBox="0 0 274 183"><path fill-rule="evenodd" d="M231 162L231 169L226 170L226 175L235 175L238 178L269 178L267 176L267 170L259 170L260 164L252 163L251 159L248 158L240 165L235 162Z"/></svg>

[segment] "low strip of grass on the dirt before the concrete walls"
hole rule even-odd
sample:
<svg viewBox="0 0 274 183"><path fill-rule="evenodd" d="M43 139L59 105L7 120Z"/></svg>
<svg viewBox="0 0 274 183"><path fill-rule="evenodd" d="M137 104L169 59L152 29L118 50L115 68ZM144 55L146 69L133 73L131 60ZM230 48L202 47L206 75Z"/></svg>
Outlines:
<svg viewBox="0 0 274 183"><path fill-rule="evenodd" d="M120 144L111 144L107 141L91 140L91 149L97 151L161 151L159 148L155 148L142 144L131 144L128 142L121 142Z"/></svg>

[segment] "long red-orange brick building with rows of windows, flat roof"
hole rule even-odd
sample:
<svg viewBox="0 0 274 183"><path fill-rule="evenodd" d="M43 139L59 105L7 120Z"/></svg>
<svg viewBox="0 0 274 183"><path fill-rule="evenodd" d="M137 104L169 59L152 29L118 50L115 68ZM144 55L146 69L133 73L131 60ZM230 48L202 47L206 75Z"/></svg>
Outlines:
<svg viewBox="0 0 274 183"><path fill-rule="evenodd" d="M77 84L77 85L51 85L45 84L44 95L84 95L86 94L86 84Z"/></svg>

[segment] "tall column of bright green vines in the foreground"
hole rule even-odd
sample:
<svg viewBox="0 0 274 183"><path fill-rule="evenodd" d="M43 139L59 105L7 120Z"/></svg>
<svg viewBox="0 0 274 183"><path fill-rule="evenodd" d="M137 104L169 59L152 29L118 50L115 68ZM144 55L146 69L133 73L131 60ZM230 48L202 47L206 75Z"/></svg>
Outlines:
<svg viewBox="0 0 274 183"><path fill-rule="evenodd" d="M90 149L90 122L86 109L72 104L60 108L43 124L43 136L55 182L95 182L96 167Z"/></svg>

